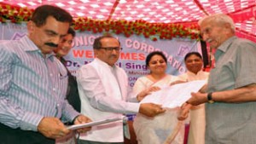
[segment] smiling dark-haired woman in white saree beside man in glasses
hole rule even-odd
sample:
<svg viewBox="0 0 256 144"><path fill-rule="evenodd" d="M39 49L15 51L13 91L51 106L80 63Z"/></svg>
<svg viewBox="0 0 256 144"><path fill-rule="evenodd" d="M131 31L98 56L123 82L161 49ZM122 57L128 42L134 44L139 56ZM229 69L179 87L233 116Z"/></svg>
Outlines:
<svg viewBox="0 0 256 144"><path fill-rule="evenodd" d="M146 65L150 73L137 79L133 87L133 92L137 94L150 94L179 80L176 76L166 74L166 56L160 51L150 53L146 58ZM138 96L137 99L141 101L143 96ZM133 126L138 144L183 144L184 124L177 120L178 112L177 107L166 108L166 112L154 118L137 114Z"/></svg>

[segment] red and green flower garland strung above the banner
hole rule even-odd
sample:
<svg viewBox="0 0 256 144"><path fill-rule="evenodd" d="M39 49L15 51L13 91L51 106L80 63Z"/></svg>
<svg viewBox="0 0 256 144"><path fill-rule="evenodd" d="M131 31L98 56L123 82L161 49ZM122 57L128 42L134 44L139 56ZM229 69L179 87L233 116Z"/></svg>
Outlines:
<svg viewBox="0 0 256 144"><path fill-rule="evenodd" d="M0 3L0 22L10 21L19 24L31 19L33 9L20 8L5 3ZM200 40L199 26L196 23L149 23L145 20L93 20L90 18L74 18L73 29L84 32L108 32L124 34L130 37L133 34L157 39L172 39L183 37Z"/></svg>

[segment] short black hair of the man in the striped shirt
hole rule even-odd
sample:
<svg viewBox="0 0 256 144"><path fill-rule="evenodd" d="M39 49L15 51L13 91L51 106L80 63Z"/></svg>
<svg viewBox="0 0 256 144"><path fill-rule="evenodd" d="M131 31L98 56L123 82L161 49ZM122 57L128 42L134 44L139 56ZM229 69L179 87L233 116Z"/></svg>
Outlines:
<svg viewBox="0 0 256 144"><path fill-rule="evenodd" d="M66 10L52 5L39 6L32 14L32 21L36 26L44 26L46 19L53 16L55 20L72 24L73 18Z"/></svg>

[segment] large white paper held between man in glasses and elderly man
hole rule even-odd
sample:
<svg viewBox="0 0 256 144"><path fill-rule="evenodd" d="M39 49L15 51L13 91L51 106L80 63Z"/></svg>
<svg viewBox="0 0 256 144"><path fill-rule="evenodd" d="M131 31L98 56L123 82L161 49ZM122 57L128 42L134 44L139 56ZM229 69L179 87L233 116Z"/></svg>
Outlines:
<svg viewBox="0 0 256 144"><path fill-rule="evenodd" d="M184 102L189 100L191 92L198 92L198 90L200 90L206 83L206 80L196 80L183 84L166 86L151 95L147 95L140 103L152 102L168 108L181 107Z"/></svg>

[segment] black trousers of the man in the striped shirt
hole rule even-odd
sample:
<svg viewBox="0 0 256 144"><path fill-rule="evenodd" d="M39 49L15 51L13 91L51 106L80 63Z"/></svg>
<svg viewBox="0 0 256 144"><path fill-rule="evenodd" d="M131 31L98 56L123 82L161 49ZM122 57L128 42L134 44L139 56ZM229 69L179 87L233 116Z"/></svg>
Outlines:
<svg viewBox="0 0 256 144"><path fill-rule="evenodd" d="M12 129L0 123L0 144L55 144L55 140L35 131Z"/></svg>

